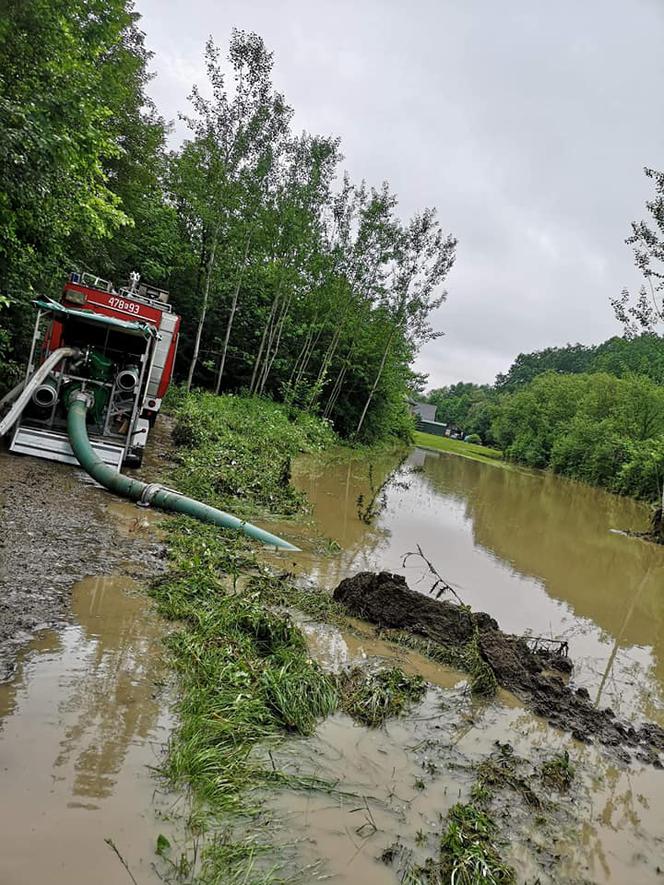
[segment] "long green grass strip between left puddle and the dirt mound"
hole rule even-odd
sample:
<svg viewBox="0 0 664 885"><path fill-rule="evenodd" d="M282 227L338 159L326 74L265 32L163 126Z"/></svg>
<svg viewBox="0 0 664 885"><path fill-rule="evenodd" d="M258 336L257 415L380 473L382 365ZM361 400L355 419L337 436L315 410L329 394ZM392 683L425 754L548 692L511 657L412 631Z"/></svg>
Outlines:
<svg viewBox="0 0 664 885"><path fill-rule="evenodd" d="M262 779L251 759L257 743L311 734L337 693L289 615L223 585L210 568L214 553L200 554L205 529L191 527L189 550L178 538L175 568L152 591L162 613L182 624L168 640L181 687L168 774L211 808L231 810Z"/></svg>

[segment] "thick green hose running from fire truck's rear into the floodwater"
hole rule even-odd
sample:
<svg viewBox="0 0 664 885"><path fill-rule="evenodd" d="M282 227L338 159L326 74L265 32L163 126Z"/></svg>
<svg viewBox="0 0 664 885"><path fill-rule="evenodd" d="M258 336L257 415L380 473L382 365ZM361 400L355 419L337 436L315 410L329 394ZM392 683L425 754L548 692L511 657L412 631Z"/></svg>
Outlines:
<svg viewBox="0 0 664 885"><path fill-rule="evenodd" d="M67 399L67 433L79 464L100 485L105 486L111 492L115 492L116 495L121 495L124 498L129 498L146 506L153 504L162 510L184 513L186 516L193 516L202 522L211 522L213 525L218 525L222 528L236 529L270 547L299 551L299 547L295 547L293 544L289 544L288 541L284 541L276 535L271 535L269 532L265 532L249 522L244 522L236 516L231 516L230 513L224 513L223 510L217 510L214 507L209 507L207 504L202 504L200 501L194 501L193 498L187 498L185 495L181 495L172 489L166 489L158 483L145 483L138 479L130 479L128 476L117 473L108 464L104 464L90 445L88 431L85 426L88 409L93 404L94 396L90 392L74 390L70 393Z"/></svg>

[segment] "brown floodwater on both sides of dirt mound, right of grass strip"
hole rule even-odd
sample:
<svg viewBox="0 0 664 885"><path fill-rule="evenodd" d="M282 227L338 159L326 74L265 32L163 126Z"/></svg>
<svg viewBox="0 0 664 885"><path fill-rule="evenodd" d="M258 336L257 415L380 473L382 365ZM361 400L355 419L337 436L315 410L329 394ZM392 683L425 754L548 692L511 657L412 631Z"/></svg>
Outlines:
<svg viewBox="0 0 664 885"><path fill-rule="evenodd" d="M348 574L384 569L426 593L433 583L427 567L416 557L404 563L419 545L459 596L504 630L568 639L574 683L598 704L626 718L664 723L664 550L622 534L646 527L646 507L551 475L416 449L387 486L382 512L366 524L358 518L358 497L366 502L394 466L394 458L377 459L370 477L361 459L301 459L293 481L311 502L312 518L279 525L304 551L297 560L280 556L281 566L287 562L329 589ZM361 632L359 639L317 625L308 632L314 653L331 665L402 654ZM407 656L397 662L418 670L419 662ZM445 678L425 675L445 687ZM457 675L457 683L462 678ZM467 697L458 691L448 688L438 700L430 693L412 716L380 732L333 717L297 747L295 771L342 779L355 794L285 794L275 803L312 870L320 865L321 875L332 873L340 882L394 882L392 868L376 858L397 836L415 859L427 849L435 855L440 815L468 795L467 766L498 739L529 757L566 748L578 770L568 819L555 836L538 836L532 820L522 822L520 835L516 827L508 854L519 881L645 885L658 878L663 772L621 768L506 694L488 706L464 708ZM416 752L422 745L424 761ZM423 771L426 789L420 790L414 784L421 785ZM547 853L549 869L542 864Z"/></svg>

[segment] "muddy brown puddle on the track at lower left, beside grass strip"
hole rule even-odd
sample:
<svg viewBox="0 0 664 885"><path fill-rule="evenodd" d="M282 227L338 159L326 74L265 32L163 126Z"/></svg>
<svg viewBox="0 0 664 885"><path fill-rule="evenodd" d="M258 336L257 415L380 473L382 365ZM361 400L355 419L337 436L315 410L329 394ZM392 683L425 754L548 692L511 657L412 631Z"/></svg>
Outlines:
<svg viewBox="0 0 664 885"><path fill-rule="evenodd" d="M127 883L111 839L140 883L157 882L164 624L126 577L80 581L72 609L76 623L37 637L0 685L0 881Z"/></svg>

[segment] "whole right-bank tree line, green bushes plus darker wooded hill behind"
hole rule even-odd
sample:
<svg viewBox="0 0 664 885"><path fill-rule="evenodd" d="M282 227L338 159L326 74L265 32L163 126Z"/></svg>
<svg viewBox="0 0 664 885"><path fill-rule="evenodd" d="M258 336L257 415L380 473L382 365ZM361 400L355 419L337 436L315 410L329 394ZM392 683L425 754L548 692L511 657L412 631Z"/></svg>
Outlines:
<svg viewBox="0 0 664 885"><path fill-rule="evenodd" d="M494 385L432 390L436 419L513 461L645 500L664 483L664 341L654 332L519 354Z"/></svg>

